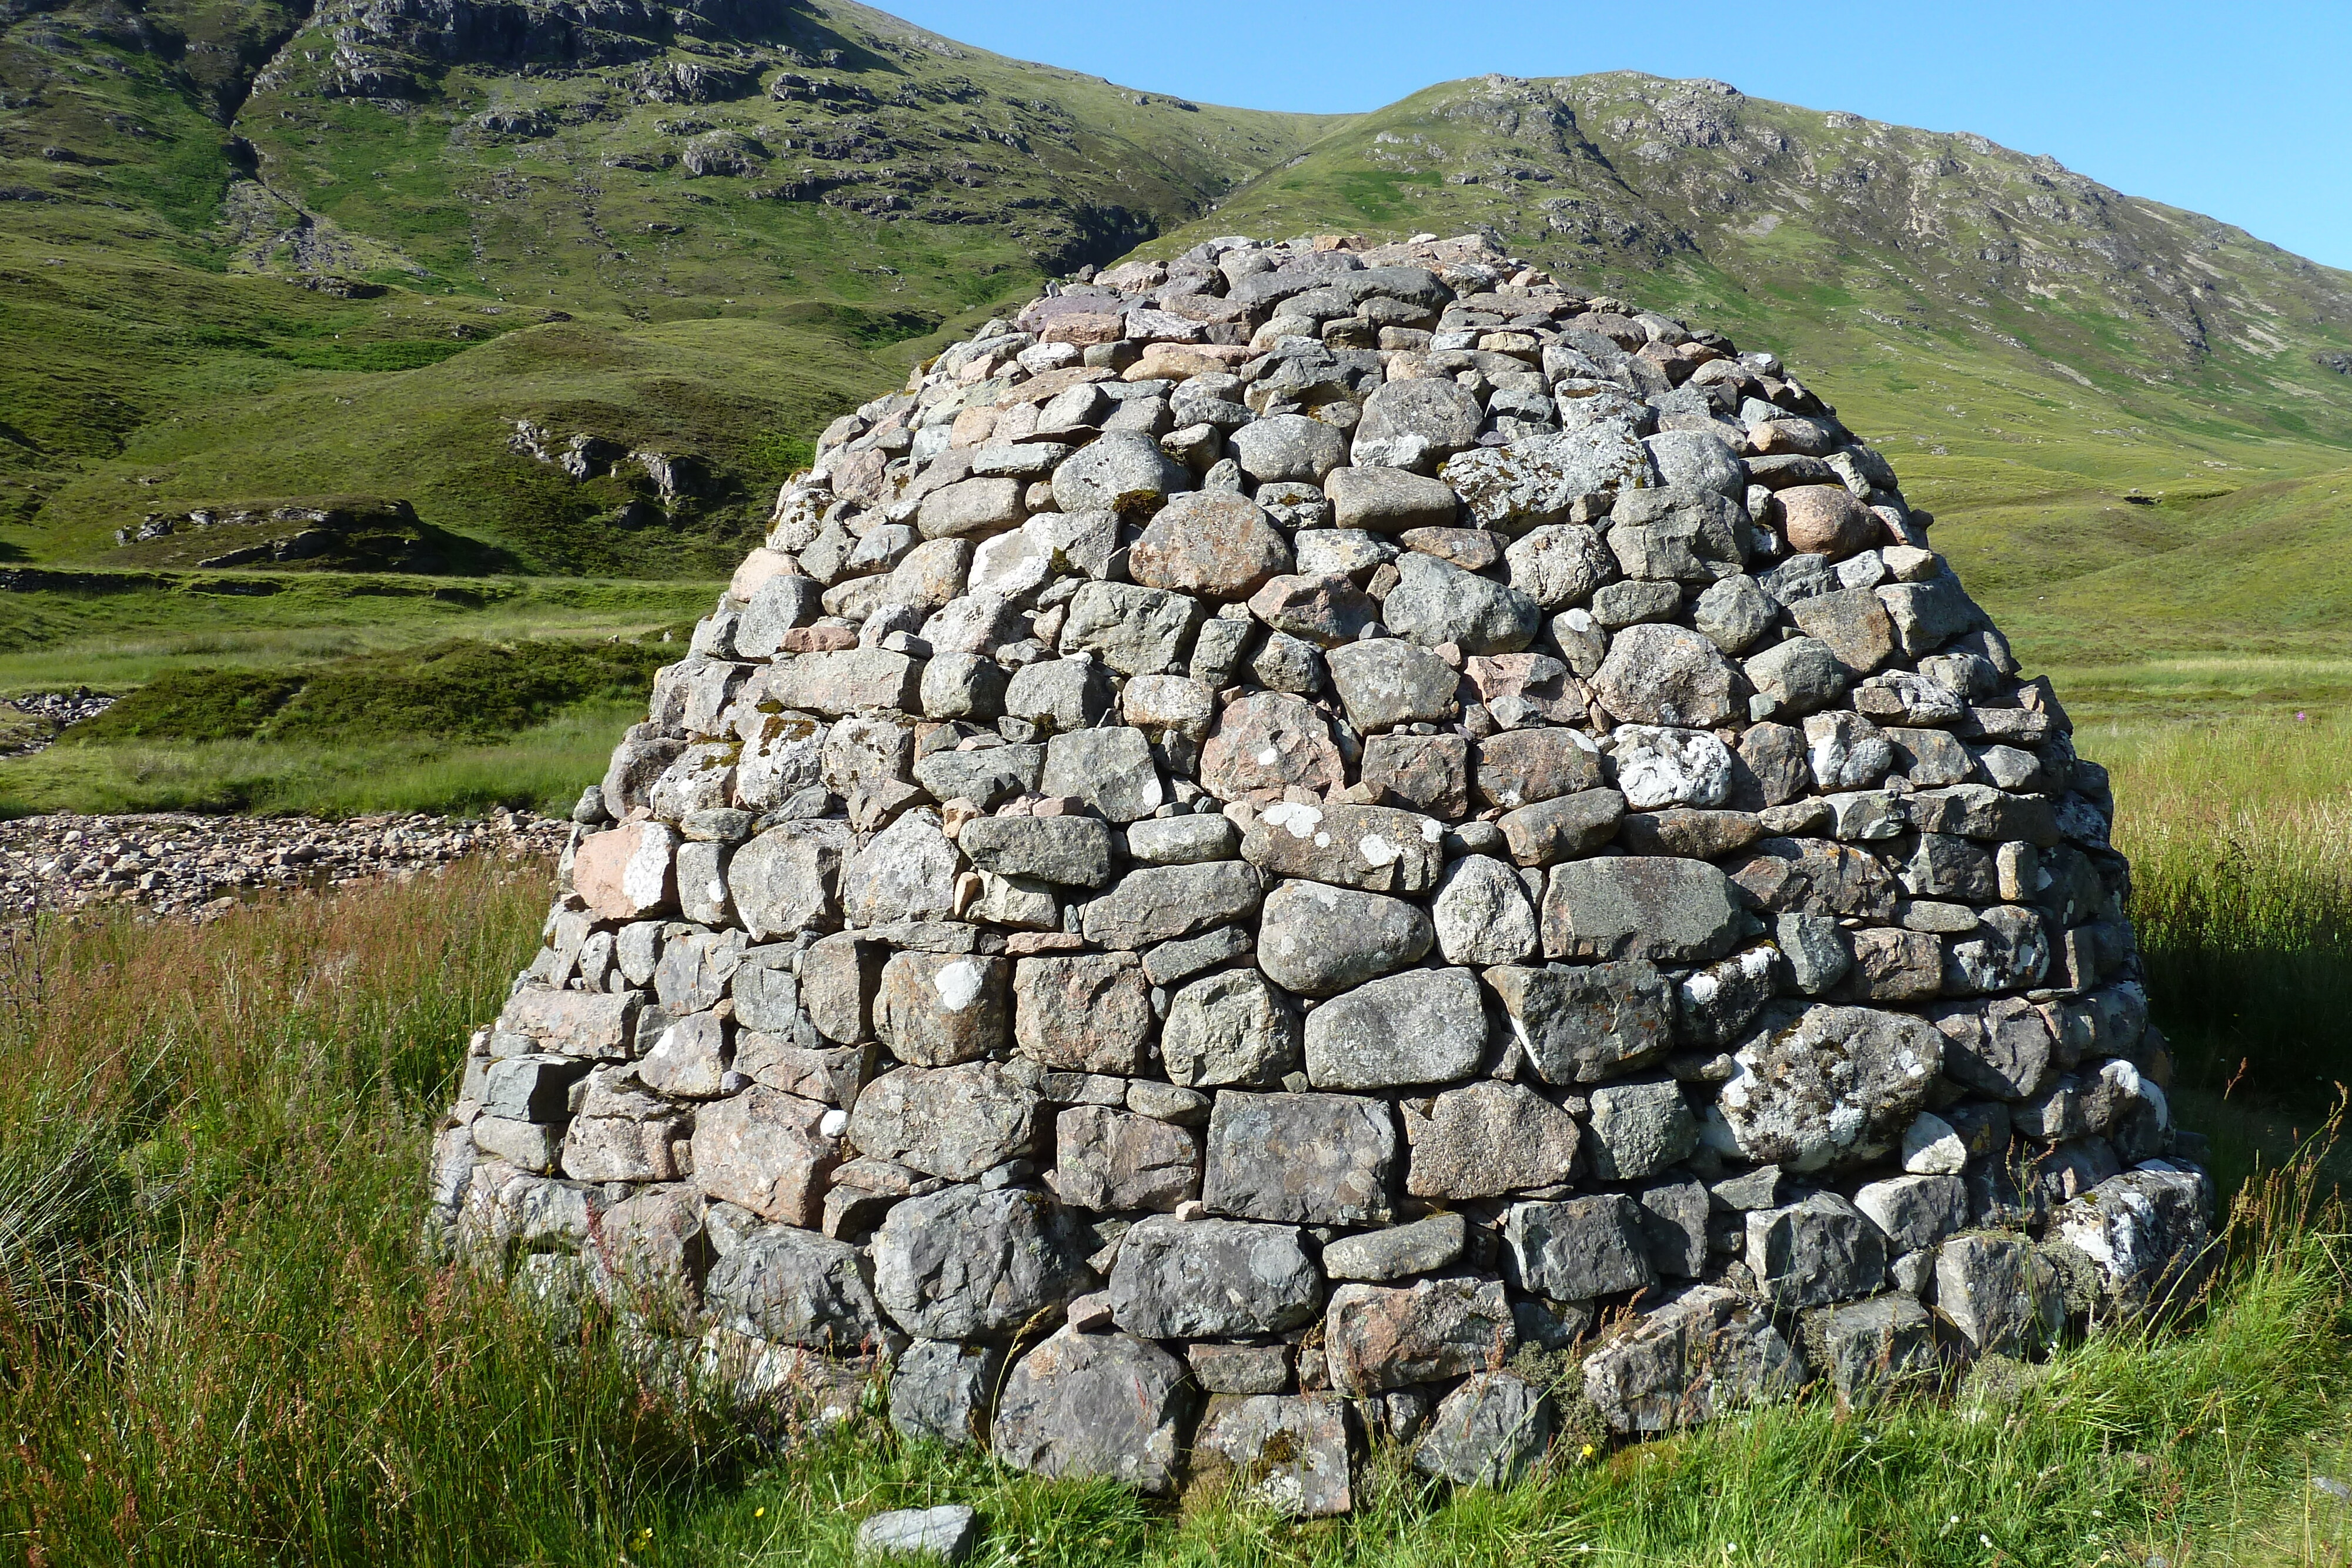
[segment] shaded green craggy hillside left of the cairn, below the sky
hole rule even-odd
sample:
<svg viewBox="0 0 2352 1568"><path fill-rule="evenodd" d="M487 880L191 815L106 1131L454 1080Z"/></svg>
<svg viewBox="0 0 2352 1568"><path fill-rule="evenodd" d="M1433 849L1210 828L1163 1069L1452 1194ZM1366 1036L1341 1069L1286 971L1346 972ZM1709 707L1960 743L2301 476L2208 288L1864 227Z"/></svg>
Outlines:
<svg viewBox="0 0 2352 1568"><path fill-rule="evenodd" d="M207 550L115 531L332 496L508 569L708 576L927 343L1327 125L797 0L0 19L0 543L31 559L181 564ZM694 482L574 482L515 421Z"/></svg>

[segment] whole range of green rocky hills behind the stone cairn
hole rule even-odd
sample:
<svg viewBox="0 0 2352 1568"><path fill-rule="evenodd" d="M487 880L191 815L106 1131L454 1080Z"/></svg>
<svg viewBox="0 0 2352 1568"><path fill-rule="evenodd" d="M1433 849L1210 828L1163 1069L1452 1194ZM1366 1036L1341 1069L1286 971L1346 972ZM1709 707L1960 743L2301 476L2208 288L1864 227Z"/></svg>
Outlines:
<svg viewBox="0 0 2352 1568"><path fill-rule="evenodd" d="M1710 80L1315 118L837 0L9 0L0 195L28 559L148 564L153 517L336 496L520 571L717 571L807 437L948 334L1235 230L1494 230L1792 355L1950 503L2352 461L2352 275Z"/></svg>

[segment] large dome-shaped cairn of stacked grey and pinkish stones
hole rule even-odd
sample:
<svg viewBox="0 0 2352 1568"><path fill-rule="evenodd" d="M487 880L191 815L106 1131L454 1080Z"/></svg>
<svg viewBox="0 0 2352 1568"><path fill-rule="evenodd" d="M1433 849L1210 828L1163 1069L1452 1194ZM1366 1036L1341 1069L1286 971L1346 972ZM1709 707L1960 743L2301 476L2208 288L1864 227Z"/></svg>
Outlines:
<svg viewBox="0 0 2352 1568"><path fill-rule="evenodd" d="M1049 289L656 679L437 1229L748 1401L1298 1514L2145 1314L2213 1187L2107 776L1924 522L1484 237Z"/></svg>

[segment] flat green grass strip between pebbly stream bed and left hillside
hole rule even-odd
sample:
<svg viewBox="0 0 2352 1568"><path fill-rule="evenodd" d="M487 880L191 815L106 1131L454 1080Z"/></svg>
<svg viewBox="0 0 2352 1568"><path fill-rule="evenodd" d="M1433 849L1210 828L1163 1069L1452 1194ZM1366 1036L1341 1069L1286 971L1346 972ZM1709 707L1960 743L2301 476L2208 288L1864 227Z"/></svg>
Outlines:
<svg viewBox="0 0 2352 1568"><path fill-rule="evenodd" d="M226 574L223 574L226 576ZM0 689L129 691L0 762L0 813L562 809L644 717L706 581L153 574L0 595ZM663 637L670 642L663 642Z"/></svg>

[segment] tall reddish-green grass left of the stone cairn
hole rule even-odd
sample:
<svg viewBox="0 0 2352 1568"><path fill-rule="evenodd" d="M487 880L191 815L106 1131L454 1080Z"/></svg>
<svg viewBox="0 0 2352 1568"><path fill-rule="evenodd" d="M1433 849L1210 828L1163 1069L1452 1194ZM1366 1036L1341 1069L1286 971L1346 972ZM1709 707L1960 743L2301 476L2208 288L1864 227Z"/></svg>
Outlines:
<svg viewBox="0 0 2352 1568"><path fill-rule="evenodd" d="M734 1439L419 1255L452 1044L543 867L52 929L0 1056L0 1540L26 1563L614 1561Z"/></svg>

